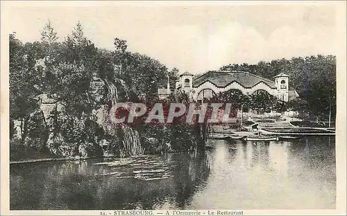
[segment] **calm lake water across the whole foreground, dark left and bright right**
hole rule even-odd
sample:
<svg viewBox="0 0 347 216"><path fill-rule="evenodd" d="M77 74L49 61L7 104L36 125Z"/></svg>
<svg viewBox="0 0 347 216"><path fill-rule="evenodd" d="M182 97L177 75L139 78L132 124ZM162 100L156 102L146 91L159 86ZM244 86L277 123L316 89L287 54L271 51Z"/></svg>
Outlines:
<svg viewBox="0 0 347 216"><path fill-rule="evenodd" d="M335 208L335 137L10 165L11 210Z"/></svg>

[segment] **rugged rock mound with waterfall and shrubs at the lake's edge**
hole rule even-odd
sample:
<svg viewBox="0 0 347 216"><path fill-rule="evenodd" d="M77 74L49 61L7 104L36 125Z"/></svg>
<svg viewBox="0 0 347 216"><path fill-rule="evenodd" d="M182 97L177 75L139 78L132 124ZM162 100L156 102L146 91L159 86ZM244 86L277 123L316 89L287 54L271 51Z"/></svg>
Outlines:
<svg viewBox="0 0 347 216"><path fill-rule="evenodd" d="M26 148L35 149L35 155L40 154L41 150L46 150L51 156L67 158L144 154L144 147L136 129L127 125L115 126L108 121L109 105L106 103L127 100L124 83L121 80L111 82L94 77L90 82L90 89L85 94L88 102L94 105L94 110L92 116L83 113L84 117L80 116L81 119L65 114L65 104L55 95L44 93L35 97L39 109L28 117L25 124L26 136L23 143ZM95 120L103 128L104 134L97 134L97 127L94 129L90 123L86 127L86 120ZM13 125L16 134L22 133L23 125L20 122ZM91 134L94 132L95 135ZM17 135L15 137L20 138Z"/></svg>

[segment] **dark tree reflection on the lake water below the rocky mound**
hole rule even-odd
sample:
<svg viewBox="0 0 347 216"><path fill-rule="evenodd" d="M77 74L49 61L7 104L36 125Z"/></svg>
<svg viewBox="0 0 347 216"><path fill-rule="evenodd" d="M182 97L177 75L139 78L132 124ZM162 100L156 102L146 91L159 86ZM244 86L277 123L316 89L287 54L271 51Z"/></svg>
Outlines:
<svg viewBox="0 0 347 216"><path fill-rule="evenodd" d="M131 176L138 169L134 166L94 165L102 162L96 160L12 165L10 208L183 208L210 172L207 154L169 154L151 161L168 168L170 177L144 181Z"/></svg>

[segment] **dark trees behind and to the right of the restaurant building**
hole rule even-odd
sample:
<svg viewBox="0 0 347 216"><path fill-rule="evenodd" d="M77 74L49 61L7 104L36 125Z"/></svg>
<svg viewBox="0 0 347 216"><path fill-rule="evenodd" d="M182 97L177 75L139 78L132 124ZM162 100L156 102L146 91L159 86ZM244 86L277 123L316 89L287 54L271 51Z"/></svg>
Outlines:
<svg viewBox="0 0 347 216"><path fill-rule="evenodd" d="M296 90L302 101L291 102L291 107L305 111L310 118L328 120L336 116L336 57L312 55L292 57L257 64L228 64L222 71L247 71L273 80L279 73L289 75L289 90Z"/></svg>

